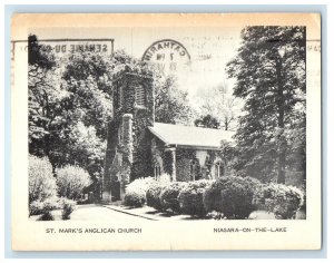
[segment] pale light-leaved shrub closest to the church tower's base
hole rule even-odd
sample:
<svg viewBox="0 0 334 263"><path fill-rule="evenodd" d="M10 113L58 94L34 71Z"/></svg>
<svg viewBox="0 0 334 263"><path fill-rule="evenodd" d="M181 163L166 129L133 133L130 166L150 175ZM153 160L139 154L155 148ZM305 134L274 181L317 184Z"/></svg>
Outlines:
<svg viewBox="0 0 334 263"><path fill-rule="evenodd" d="M154 184L153 177L138 178L126 187L124 204L132 207L141 207L146 202L146 192L150 184Z"/></svg>

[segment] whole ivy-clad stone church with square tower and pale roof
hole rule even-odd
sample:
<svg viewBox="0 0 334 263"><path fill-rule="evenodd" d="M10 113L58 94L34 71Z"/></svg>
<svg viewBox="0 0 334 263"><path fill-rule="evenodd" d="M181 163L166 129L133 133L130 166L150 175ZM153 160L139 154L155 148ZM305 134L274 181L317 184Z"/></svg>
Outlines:
<svg viewBox="0 0 334 263"><path fill-rule="evenodd" d="M122 199L126 185L161 174L171 181L215 179L226 173L222 140L232 133L155 121L153 76L125 69L115 78L102 202Z"/></svg>

